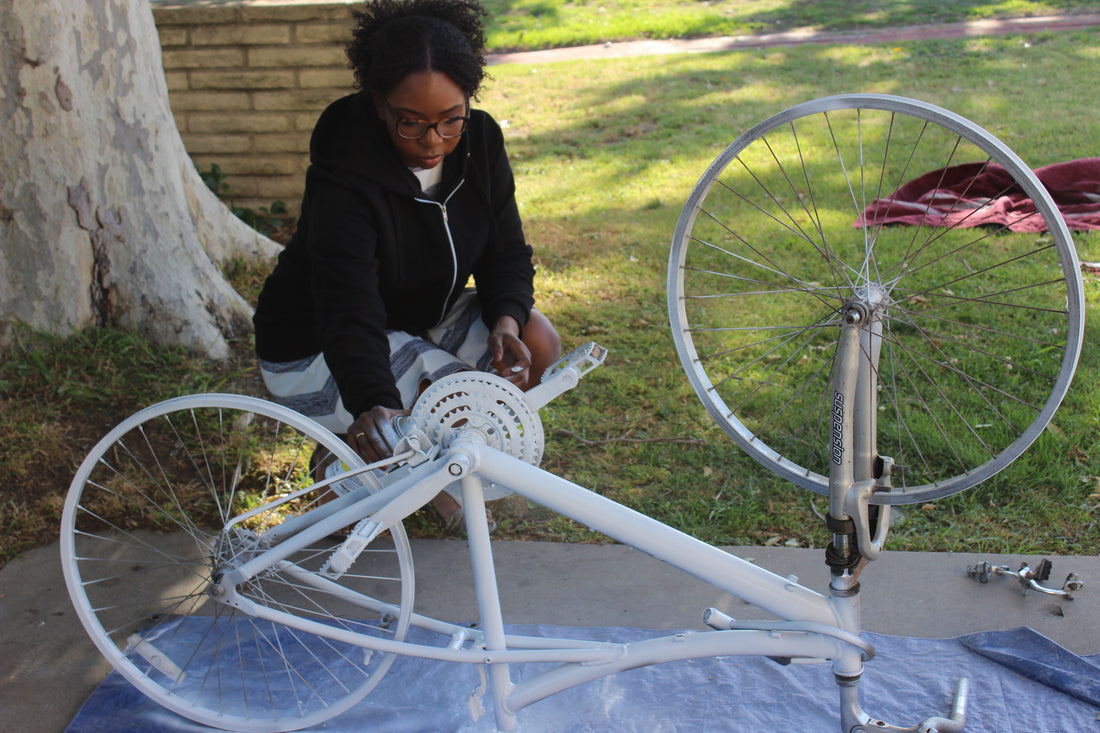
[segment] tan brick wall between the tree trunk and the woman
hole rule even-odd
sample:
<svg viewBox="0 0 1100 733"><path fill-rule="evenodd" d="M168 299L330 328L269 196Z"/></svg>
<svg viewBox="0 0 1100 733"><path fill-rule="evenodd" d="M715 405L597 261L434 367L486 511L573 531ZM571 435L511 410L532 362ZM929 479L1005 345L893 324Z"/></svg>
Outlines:
<svg viewBox="0 0 1100 733"><path fill-rule="evenodd" d="M309 133L352 89L343 48L361 0L153 0L168 100L191 160L234 204L297 212Z"/></svg>

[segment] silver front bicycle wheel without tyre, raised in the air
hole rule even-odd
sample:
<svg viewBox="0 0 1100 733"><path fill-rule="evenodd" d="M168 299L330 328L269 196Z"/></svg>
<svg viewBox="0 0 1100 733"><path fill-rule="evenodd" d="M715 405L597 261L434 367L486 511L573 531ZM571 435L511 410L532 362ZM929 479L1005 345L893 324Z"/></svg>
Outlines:
<svg viewBox="0 0 1100 733"><path fill-rule="evenodd" d="M982 209L938 200L942 174L930 174L941 176L930 197L948 216L933 221L917 207L911 226L883 223L901 210L891 193L902 184L961 164L997 180L982 194L990 201L1026 194L1035 210L1025 219L1044 231L969 226ZM977 184L963 194L972 204ZM868 297L881 321L867 381L878 406L856 428L897 462L875 503L924 502L988 479L1043 431L1069 387L1084 335L1072 240L1046 189L993 135L924 102L845 95L735 140L676 225L673 338L722 428L820 493L840 313Z"/></svg>

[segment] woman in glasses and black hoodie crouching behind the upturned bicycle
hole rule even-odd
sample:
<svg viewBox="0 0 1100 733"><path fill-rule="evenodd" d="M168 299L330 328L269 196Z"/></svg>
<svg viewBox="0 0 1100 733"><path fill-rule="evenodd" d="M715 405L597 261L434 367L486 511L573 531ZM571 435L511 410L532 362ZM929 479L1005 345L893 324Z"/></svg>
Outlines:
<svg viewBox="0 0 1100 733"><path fill-rule="evenodd" d="M256 353L273 396L366 460L422 389L461 370L521 389L560 354L501 128L470 103L485 78L473 0L377 0L356 12L359 92L321 114L294 239L260 295ZM466 287L473 277L476 289ZM461 516L441 495L448 524Z"/></svg>

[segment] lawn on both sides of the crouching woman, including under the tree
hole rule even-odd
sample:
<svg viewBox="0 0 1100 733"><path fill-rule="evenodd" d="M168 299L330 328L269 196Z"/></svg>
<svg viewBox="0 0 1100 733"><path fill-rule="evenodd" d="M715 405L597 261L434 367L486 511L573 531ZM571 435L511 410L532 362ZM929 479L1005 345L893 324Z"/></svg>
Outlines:
<svg viewBox="0 0 1100 733"><path fill-rule="evenodd" d="M791 19L783 22L802 24L796 13L816 4L777 7ZM901 12L901 3L883 7ZM493 67L480 103L506 121L539 307L566 347L596 340L610 351L546 408L544 466L708 541L823 546L824 500L738 449L676 361L664 267L680 207L736 135L828 94L925 99L988 128L1034 166L1094 155L1100 99L1082 90L1100 75L1097 41L1072 32ZM1100 260L1100 237L1077 242L1082 260ZM234 274L255 291L255 273ZM1054 428L982 486L904 508L888 547L1100 551L1094 275L1086 291L1087 343ZM114 331L20 336L0 363L0 562L51 538L76 466L127 414L186 392L262 394L240 346L242 361L226 371ZM496 514L502 537L600 539L515 499ZM413 529L437 532L427 519Z"/></svg>

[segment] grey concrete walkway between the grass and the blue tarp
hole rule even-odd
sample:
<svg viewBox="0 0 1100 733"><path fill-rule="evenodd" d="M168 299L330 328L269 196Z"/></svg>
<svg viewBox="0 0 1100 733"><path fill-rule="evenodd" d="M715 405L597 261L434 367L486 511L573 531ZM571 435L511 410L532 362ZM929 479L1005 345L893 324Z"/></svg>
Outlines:
<svg viewBox="0 0 1100 733"><path fill-rule="evenodd" d="M732 548L743 558L824 591L822 550ZM476 621L465 541L417 540L417 610ZM620 545L494 544L509 623L698 628L704 609L732 616L768 614ZM1012 578L981 584L967 576L979 560L1012 569L1034 556L886 553L864 573L864 626L920 637L1030 626L1085 655L1100 653L1100 558L1054 557L1052 578L1075 572L1086 588L1071 601L1024 594ZM1089 587L1091 583L1091 587ZM56 546L28 553L0 570L0 731L61 732L109 666L87 638L62 577Z"/></svg>

